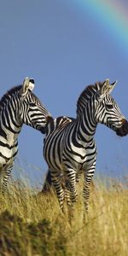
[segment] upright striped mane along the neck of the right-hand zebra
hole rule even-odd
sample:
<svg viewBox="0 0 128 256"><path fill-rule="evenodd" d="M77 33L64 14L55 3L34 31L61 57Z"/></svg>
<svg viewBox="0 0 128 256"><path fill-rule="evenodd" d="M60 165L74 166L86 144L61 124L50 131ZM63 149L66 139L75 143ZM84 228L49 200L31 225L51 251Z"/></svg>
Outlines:
<svg viewBox="0 0 128 256"><path fill-rule="evenodd" d="M77 114L82 108L85 107L86 103L90 100L90 97L96 94L97 90L102 88L102 84L102 82L90 84L82 91L77 102Z"/></svg>

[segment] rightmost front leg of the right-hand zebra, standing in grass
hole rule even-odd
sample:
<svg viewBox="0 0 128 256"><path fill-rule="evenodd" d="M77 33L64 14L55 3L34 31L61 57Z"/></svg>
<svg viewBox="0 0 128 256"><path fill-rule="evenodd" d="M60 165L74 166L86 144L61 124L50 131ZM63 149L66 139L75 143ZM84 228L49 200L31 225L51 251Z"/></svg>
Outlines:
<svg viewBox="0 0 128 256"><path fill-rule="evenodd" d="M92 180L92 177L94 175L95 172L95 168L96 168L96 160L93 163L92 166L90 166L89 170L86 170L84 172L84 207L85 210L88 211L88 207L89 207L89 200L90 200L90 183Z"/></svg>

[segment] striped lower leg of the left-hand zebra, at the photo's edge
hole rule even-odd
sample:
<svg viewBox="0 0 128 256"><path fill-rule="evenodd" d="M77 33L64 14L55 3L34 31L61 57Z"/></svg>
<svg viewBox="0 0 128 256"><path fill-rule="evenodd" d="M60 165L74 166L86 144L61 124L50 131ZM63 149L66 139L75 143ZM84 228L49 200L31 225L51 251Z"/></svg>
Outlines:
<svg viewBox="0 0 128 256"><path fill-rule="evenodd" d="M11 173L12 169L13 169L13 163L9 164L9 166L4 167L3 177L2 177L2 185L1 185L3 195L4 195L5 190L7 188L7 183L9 181L9 176L10 176L10 173Z"/></svg>

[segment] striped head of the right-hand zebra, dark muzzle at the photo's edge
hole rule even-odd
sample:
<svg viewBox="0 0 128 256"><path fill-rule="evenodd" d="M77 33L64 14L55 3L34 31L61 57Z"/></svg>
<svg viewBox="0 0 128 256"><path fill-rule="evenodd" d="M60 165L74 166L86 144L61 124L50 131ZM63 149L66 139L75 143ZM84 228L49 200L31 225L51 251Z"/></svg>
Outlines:
<svg viewBox="0 0 128 256"><path fill-rule="evenodd" d="M115 84L109 84L109 79L97 84L96 92L96 122L107 125L116 134L123 137L128 134L128 122L120 112L118 104L110 96Z"/></svg>

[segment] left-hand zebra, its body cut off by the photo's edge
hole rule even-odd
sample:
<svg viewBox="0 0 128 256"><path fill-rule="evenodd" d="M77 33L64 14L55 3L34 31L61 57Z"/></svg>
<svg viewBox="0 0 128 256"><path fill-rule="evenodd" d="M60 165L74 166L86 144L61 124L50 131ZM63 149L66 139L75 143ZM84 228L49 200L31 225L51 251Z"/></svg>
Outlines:
<svg viewBox="0 0 128 256"><path fill-rule="evenodd" d="M45 132L51 119L38 97L32 93L34 80L26 78L22 85L9 90L0 101L0 189L6 189L22 125Z"/></svg>

